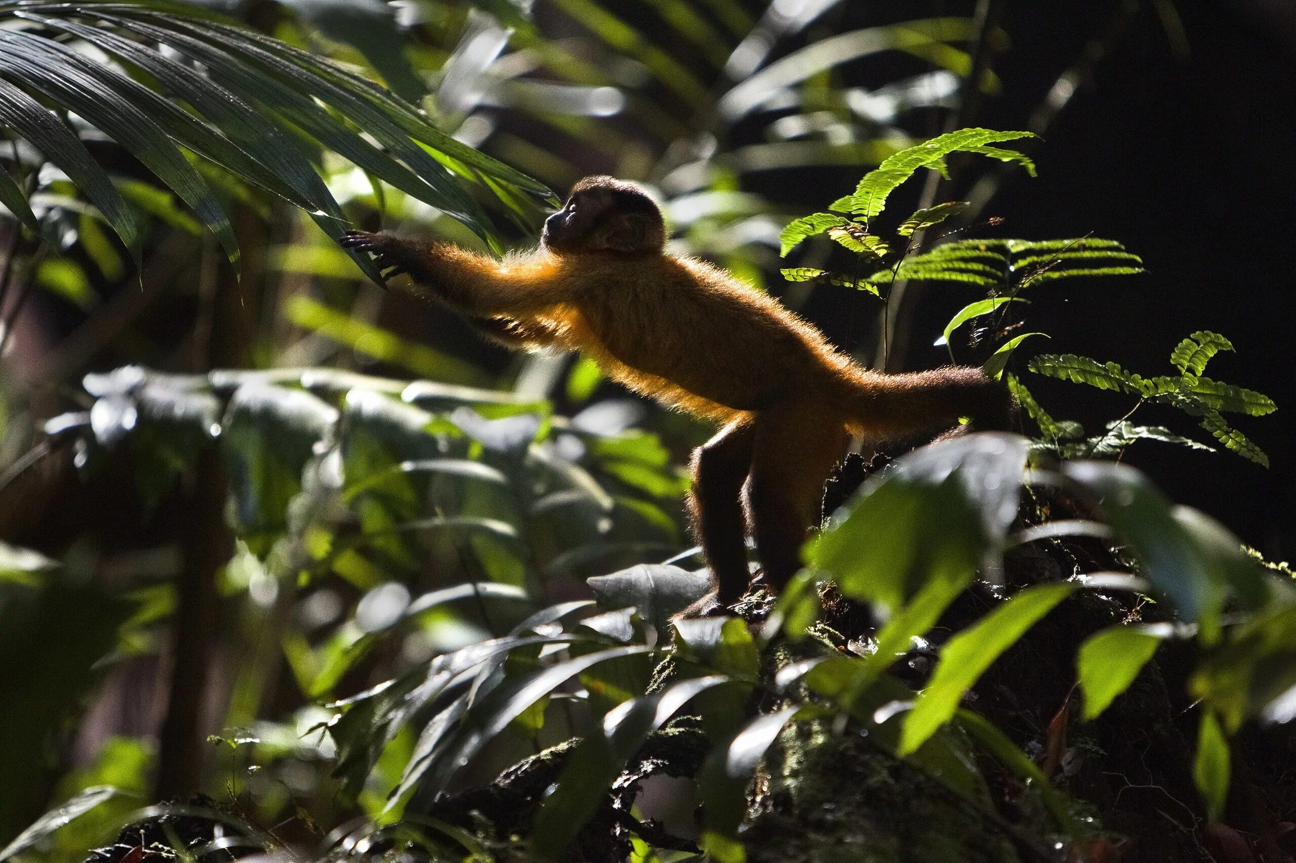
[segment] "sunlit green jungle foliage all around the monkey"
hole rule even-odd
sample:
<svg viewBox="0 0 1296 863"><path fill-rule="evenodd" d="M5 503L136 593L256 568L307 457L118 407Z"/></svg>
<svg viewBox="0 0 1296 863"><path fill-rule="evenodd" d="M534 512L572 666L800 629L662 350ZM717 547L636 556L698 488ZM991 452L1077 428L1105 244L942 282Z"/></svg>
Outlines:
<svg viewBox="0 0 1296 863"><path fill-rule="evenodd" d="M990 159L1034 175L1029 155L1001 146L1032 132L960 128L911 146L875 133L968 87L994 92L977 51L1001 34L916 21L771 61L771 45L833 4L759 16L732 0L649 4L701 51L708 80L617 4L555 0L634 61L636 87L512 3L417 4L411 51L391 9L369 5L347 18L285 3L302 18L275 18L276 39L189 5L0 3L13 144L0 203L14 216L0 303L10 282L35 285L93 323L128 273L139 286L127 289L152 290L140 273L168 237L197 250L209 327L218 282L276 285L253 368L178 371L198 327L170 359L150 347L108 372L83 373L73 346L48 367L80 380L67 409L38 426L14 398L4 415L0 492L56 463L74 466L73 499L108 489L109 507L137 500L140 518L180 524L115 570L76 536L0 544L0 692L13 708L0 715L0 863L80 860L95 846L98 863L739 863L842 846L881 860L902 857L896 844L921 859L1098 862L1122 833L1188 849L1232 829L1238 765L1248 793L1258 787L1252 737L1296 715L1296 586L1122 460L1144 439L1212 448L1131 421L1159 404L1267 466L1223 415L1277 406L1204 377L1234 350L1207 330L1174 347L1174 374L1019 356L1045 336L1021 332L1024 292L1143 273L1115 240L973 238L994 223L964 201L889 223L893 193L921 168ZM932 70L886 92L836 84L842 65L884 51ZM330 242L385 218L498 250L499 216L530 225L551 196L508 162L555 185L575 167L482 108L608 149L629 135L599 122L632 114L665 141L618 167L661 189L682 250L753 289L762 267L801 255L781 270L788 282L881 305L884 358L897 285L981 294L938 343L1002 378L1032 428L848 460L781 595L757 584L732 614L677 619L708 587L680 507L680 455L701 430L609 391L588 360L535 356L502 380L402 337L372 317L369 264ZM753 122L763 143L730 135ZM798 218L741 190L750 172L824 162L877 167ZM258 231L241 222L288 229L244 255ZM1134 404L1089 434L1054 419L1024 371ZM203 635L211 618L219 632ZM113 735L69 768L105 676L156 658L179 669L185 641L202 645L193 667L219 671L202 689L219 696L206 746ZM184 685L172 682L172 702ZM181 740L198 730L176 722ZM1117 823L1133 810L1096 793L1126 768L1130 728L1191 737L1183 765L1155 767L1195 789L1165 780L1188 812L1173 831ZM183 775L178 752L201 765L185 792L210 797L159 800L157 777ZM32 823L34 796L49 805Z"/></svg>

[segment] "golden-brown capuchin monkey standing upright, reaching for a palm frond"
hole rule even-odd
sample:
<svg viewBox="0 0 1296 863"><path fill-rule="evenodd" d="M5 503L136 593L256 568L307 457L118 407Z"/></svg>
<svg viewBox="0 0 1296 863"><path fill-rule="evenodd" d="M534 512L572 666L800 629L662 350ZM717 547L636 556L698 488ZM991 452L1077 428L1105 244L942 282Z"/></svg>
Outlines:
<svg viewBox="0 0 1296 863"><path fill-rule="evenodd" d="M715 590L688 616L746 591L748 524L765 583L787 584L851 434L881 444L964 417L976 429L1008 426L1012 399L981 369L862 368L776 299L665 254L665 241L643 189L590 176L546 220L538 249L503 260L360 231L342 245L373 253L389 275L408 273L505 345L584 351L613 380L721 425L693 452L688 501Z"/></svg>

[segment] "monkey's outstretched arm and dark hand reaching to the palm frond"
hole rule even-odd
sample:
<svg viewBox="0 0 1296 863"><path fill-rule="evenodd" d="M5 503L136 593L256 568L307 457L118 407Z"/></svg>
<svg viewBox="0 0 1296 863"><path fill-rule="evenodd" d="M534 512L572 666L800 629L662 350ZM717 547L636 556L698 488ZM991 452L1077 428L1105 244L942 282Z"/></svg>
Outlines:
<svg viewBox="0 0 1296 863"><path fill-rule="evenodd" d="M560 277L553 259L504 263L448 242L415 242L365 231L347 232L341 245L372 253L386 275L408 273L415 284L473 317L525 319L573 301L572 280Z"/></svg>

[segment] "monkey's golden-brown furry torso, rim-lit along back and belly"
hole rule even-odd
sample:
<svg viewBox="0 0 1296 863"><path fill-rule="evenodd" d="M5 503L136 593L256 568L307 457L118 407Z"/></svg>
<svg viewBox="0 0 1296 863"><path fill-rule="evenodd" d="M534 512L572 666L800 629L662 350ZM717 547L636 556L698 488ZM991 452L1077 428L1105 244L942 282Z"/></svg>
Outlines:
<svg viewBox="0 0 1296 863"><path fill-rule="evenodd" d="M581 314L564 315L569 339L640 393L724 420L789 393L826 394L849 374L818 329L710 264L665 255L587 263Z"/></svg>

